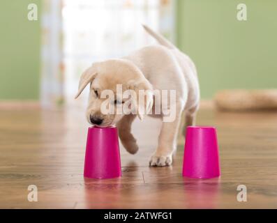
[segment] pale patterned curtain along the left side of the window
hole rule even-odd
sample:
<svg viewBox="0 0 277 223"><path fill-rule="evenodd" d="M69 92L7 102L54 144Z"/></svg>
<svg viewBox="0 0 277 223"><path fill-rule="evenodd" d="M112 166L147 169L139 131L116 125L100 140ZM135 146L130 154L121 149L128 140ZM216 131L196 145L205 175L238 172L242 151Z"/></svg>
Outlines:
<svg viewBox="0 0 277 223"><path fill-rule="evenodd" d="M43 107L63 105L62 4L44 0L42 14L40 100Z"/></svg>

